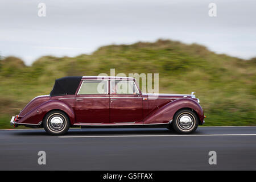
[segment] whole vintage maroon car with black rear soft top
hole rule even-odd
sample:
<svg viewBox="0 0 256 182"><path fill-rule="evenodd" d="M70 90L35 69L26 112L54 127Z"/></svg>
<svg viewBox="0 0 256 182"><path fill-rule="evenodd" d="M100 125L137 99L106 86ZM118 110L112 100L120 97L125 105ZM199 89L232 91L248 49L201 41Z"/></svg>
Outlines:
<svg viewBox="0 0 256 182"><path fill-rule="evenodd" d="M32 99L11 125L44 127L52 135L69 127L167 127L188 134L204 123L199 99L184 94L145 94L131 77L63 77L49 95Z"/></svg>

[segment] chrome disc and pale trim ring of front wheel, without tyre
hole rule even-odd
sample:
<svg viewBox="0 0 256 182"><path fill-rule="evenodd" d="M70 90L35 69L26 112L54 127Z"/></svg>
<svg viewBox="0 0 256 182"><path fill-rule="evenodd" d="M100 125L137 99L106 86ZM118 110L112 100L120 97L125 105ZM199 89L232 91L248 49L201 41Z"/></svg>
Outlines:
<svg viewBox="0 0 256 182"><path fill-rule="evenodd" d="M190 131L195 127L196 118L191 113L181 113L177 117L177 126L182 131Z"/></svg>

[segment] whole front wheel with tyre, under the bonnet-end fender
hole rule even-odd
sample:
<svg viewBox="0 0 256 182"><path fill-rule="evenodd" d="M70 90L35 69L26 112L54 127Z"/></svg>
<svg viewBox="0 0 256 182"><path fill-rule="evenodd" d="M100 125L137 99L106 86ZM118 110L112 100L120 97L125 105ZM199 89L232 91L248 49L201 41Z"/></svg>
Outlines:
<svg viewBox="0 0 256 182"><path fill-rule="evenodd" d="M172 128L180 134L191 134L197 129L198 121L197 115L188 109L177 111L172 121Z"/></svg>

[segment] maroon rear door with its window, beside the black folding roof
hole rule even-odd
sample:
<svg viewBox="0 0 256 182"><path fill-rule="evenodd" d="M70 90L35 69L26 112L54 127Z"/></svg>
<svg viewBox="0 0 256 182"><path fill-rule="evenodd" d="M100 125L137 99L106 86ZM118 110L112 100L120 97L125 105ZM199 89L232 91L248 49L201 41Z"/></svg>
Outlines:
<svg viewBox="0 0 256 182"><path fill-rule="evenodd" d="M109 123L108 80L84 80L76 96L76 123Z"/></svg>

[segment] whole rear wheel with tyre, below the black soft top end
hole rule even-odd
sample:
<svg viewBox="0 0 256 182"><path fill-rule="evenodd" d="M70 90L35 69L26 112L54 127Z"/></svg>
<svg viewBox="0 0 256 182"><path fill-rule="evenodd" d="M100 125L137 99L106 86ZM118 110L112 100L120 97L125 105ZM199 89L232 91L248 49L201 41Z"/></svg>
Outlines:
<svg viewBox="0 0 256 182"><path fill-rule="evenodd" d="M50 135L63 135L69 129L69 118L63 111L51 111L44 117L43 127Z"/></svg>

